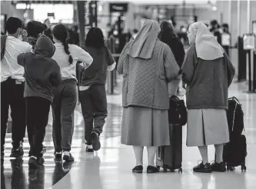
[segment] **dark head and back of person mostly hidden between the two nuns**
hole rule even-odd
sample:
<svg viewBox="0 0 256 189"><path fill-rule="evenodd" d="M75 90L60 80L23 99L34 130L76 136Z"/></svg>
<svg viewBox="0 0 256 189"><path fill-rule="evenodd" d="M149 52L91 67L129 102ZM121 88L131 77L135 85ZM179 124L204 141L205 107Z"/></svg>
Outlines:
<svg viewBox="0 0 256 189"><path fill-rule="evenodd" d="M181 40L178 38L178 35L175 33L173 25L171 22L166 20L160 23L161 31L158 35L160 41L164 42L171 48L171 51L175 55L175 60L178 65L181 67L184 58L185 58L185 50Z"/></svg>

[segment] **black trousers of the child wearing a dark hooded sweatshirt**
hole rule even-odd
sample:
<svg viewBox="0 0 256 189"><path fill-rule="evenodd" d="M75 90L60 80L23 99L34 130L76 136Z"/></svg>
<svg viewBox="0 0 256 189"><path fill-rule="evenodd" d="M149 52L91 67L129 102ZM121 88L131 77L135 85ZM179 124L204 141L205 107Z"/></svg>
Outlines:
<svg viewBox="0 0 256 189"><path fill-rule="evenodd" d="M48 124L51 102L45 98L28 97L25 98L25 104L30 144L29 156L42 157L42 142L45 139L45 127Z"/></svg>

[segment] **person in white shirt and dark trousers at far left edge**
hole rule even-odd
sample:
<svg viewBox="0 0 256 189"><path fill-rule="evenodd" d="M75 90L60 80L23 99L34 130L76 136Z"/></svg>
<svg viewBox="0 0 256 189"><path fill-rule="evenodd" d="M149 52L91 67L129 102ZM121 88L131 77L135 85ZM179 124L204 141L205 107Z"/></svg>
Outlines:
<svg viewBox="0 0 256 189"><path fill-rule="evenodd" d="M9 106L12 111L11 157L17 158L24 154L22 141L26 127L23 98L25 72L18 65L17 57L21 53L32 51L32 46L18 39L22 35L22 21L19 18L8 18L6 30L8 35L1 37L1 158L4 158Z"/></svg>

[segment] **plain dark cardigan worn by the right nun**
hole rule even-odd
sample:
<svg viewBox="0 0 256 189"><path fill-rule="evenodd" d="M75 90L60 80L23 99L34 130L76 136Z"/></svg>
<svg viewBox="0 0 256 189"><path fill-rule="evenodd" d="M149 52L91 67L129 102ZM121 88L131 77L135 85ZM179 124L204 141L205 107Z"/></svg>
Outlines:
<svg viewBox="0 0 256 189"><path fill-rule="evenodd" d="M205 61L197 57L195 45L191 45L181 70L188 85L188 109L228 109L228 87L235 70L226 53L223 58Z"/></svg>

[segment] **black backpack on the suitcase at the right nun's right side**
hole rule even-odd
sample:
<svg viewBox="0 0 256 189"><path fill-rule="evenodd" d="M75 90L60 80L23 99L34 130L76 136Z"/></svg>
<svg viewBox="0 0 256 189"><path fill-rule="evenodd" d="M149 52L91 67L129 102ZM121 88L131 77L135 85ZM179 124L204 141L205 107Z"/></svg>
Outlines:
<svg viewBox="0 0 256 189"><path fill-rule="evenodd" d="M240 135L244 130L244 111L238 98L228 98L228 130L230 135Z"/></svg>

